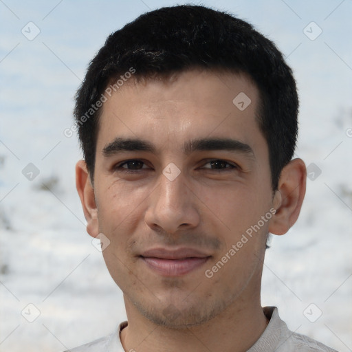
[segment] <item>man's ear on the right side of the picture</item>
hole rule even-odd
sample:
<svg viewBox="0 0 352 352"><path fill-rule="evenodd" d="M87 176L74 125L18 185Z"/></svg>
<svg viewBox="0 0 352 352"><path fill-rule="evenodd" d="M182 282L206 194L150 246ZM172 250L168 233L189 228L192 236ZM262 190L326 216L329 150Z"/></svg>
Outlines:
<svg viewBox="0 0 352 352"><path fill-rule="evenodd" d="M305 197L306 179L302 159L291 160L281 171L273 201L276 213L269 225L272 234L285 234L297 221Z"/></svg>

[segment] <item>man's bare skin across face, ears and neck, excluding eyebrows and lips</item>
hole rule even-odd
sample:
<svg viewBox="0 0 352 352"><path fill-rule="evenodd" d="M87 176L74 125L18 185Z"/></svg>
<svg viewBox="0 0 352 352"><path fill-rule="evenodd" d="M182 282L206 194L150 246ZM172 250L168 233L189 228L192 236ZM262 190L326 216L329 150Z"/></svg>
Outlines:
<svg viewBox="0 0 352 352"><path fill-rule="evenodd" d="M232 103L240 92L251 99L244 111ZM189 71L167 81L129 80L104 103L94 186L83 160L76 165L76 185L87 232L110 241L103 256L124 293L126 351L246 351L265 330L261 273L267 233L285 234L296 222L306 170L301 159L292 160L273 192L267 143L256 122L258 102L258 90L243 75ZM116 137L146 140L155 153L104 156ZM205 137L238 140L253 155L184 153L186 141ZM140 162L123 164L129 159ZM211 163L219 159L228 164ZM173 181L162 172L170 163L181 171ZM270 220L208 278L205 271L272 208ZM199 248L210 258L187 274L166 277L140 258L155 247Z"/></svg>

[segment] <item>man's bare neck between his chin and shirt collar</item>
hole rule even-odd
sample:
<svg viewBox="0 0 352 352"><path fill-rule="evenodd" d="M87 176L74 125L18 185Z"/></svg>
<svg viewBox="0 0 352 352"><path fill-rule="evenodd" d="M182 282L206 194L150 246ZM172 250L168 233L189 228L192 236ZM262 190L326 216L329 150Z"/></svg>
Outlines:
<svg viewBox="0 0 352 352"><path fill-rule="evenodd" d="M260 338L268 321L260 304L260 292L259 297L247 296L245 300L241 297L236 298L234 303L205 324L185 329L155 325L142 316L125 297L129 325L121 333L124 350L247 351Z"/></svg>

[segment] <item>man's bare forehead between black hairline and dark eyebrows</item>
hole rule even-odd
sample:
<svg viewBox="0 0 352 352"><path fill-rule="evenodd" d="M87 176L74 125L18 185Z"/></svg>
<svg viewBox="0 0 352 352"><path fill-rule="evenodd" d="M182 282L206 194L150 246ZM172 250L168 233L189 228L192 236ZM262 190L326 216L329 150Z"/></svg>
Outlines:
<svg viewBox="0 0 352 352"><path fill-rule="evenodd" d="M173 149L209 136L263 142L258 100L258 89L243 74L189 71L168 80L131 78L103 104L97 152L120 136Z"/></svg>

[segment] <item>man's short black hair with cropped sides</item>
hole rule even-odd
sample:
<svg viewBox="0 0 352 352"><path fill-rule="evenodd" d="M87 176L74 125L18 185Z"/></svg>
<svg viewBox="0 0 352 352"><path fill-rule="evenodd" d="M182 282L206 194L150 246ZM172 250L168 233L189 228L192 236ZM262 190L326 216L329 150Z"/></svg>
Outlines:
<svg viewBox="0 0 352 352"><path fill-rule="evenodd" d="M91 180L100 106L107 98L107 87L119 78L126 80L131 72L136 78L160 78L189 69L243 73L259 89L257 120L267 141L276 190L281 170L294 155L298 133L298 94L292 69L274 43L250 23L200 5L142 14L110 34L89 64L76 94L74 116ZM115 90L119 85L111 87Z"/></svg>

